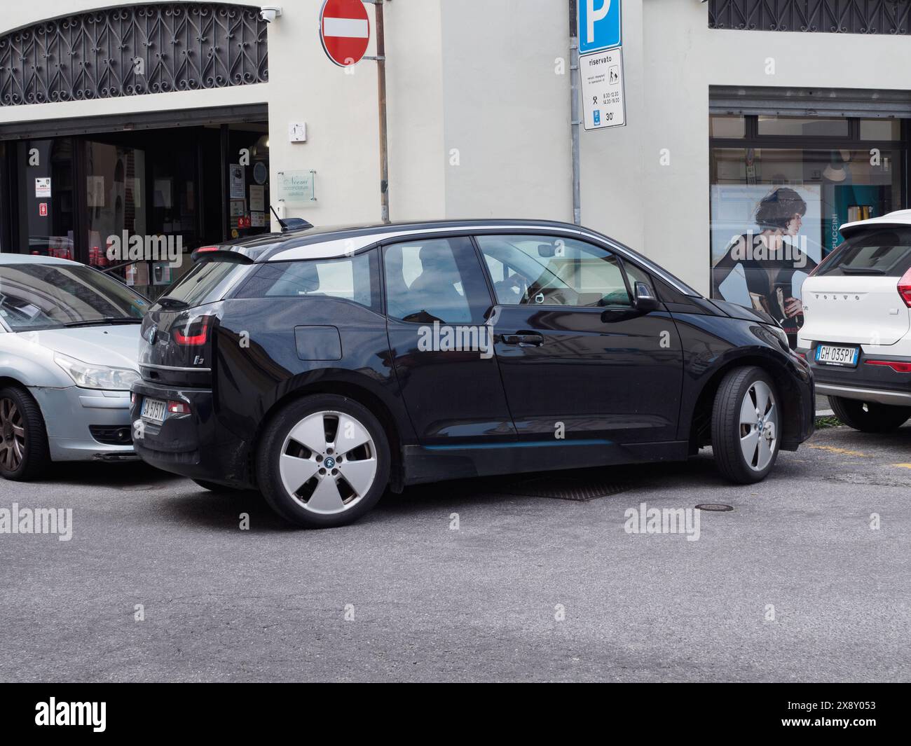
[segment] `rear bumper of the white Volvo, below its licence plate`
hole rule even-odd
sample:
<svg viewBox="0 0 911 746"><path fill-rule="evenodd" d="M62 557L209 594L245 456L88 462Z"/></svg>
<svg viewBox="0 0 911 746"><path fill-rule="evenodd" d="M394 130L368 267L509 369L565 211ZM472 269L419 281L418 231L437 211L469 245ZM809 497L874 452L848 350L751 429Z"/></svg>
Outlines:
<svg viewBox="0 0 911 746"><path fill-rule="evenodd" d="M819 365L814 362L816 344L800 350L813 370L816 392L863 402L911 406L911 373L898 373L887 365L869 365L867 360L911 363L911 357L868 355L860 348L857 367Z"/></svg>

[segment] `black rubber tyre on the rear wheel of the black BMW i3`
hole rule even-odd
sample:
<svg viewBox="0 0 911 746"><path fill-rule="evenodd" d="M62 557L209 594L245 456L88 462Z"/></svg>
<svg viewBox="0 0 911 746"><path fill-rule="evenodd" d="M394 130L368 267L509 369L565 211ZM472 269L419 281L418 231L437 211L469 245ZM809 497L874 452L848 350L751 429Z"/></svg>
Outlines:
<svg viewBox="0 0 911 746"><path fill-rule="evenodd" d="M291 437L292 429L302 424L305 419L319 417L320 414L323 414L322 420L317 421L325 423L328 420L330 425L325 425L327 427L331 426L335 414L340 414L353 418L356 424L363 427L366 433L369 434L371 443L359 446L355 451L358 452L358 456L371 453L373 454L372 457L357 458L350 455L355 453L355 451L351 451L348 457L348 464L358 460L367 462L375 459L374 476L369 488L364 488L360 494L355 490L355 496L348 498L350 506L346 506L348 503L344 502L345 498L342 497L343 508L341 512L334 514L314 513L308 507L316 495L315 487L312 486L312 483L318 484L314 483L314 480L325 479L328 482L332 479L333 484L337 485L336 492L338 493L346 489L353 489L352 485L344 479L345 464L343 464L343 454L348 454L349 452L343 452L341 447L337 451L329 452L330 457L331 455L342 455L337 464L333 461L333 465L337 466L336 471L340 478L333 477L336 471L330 470L331 473L326 473L327 470L322 469L323 475L314 475L302 485L295 495L292 495L289 489L285 487L280 469L282 448L286 446L286 441ZM341 418L338 419L338 426L341 427ZM337 433L338 431L336 431L333 444L338 443L339 436ZM296 448L297 454L302 457L306 455L307 459L320 457L318 450L305 448L293 441L288 443L287 447L289 449ZM287 453L286 455L292 454ZM322 454L322 458L326 459L327 457ZM380 497L383 496L386 485L389 483L390 461L389 442L383 425L380 424L370 410L364 407L363 404L359 404L345 396L320 393L305 396L288 404L266 425L257 447L256 474L262 496L265 497L266 502L279 516L298 526L330 528L350 524L376 505ZM325 460L322 463L325 464ZM308 485L310 486L308 487ZM306 494L308 489L312 490L312 496L310 497Z"/></svg>

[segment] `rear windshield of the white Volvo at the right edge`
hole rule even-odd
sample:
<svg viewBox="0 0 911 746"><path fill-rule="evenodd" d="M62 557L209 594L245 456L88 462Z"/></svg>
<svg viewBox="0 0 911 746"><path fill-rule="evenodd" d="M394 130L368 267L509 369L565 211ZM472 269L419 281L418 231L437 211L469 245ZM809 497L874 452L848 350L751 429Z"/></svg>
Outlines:
<svg viewBox="0 0 911 746"><path fill-rule="evenodd" d="M838 247L834 257L816 272L849 277L901 277L911 269L911 227L868 229L855 233Z"/></svg>

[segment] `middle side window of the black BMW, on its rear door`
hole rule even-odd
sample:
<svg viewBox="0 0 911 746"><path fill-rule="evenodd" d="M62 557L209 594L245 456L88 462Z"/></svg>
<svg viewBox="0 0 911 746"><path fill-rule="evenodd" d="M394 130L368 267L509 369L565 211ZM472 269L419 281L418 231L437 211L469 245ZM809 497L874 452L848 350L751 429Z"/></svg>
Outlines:
<svg viewBox="0 0 911 746"><path fill-rule="evenodd" d="M404 322L482 323L490 294L471 240L411 240L383 252L386 312Z"/></svg>

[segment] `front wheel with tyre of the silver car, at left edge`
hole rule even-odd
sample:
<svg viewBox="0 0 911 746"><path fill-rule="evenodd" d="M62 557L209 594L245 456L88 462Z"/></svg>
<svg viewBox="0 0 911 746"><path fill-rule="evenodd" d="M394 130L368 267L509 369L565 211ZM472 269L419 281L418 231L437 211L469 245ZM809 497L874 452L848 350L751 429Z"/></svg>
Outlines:
<svg viewBox="0 0 911 746"><path fill-rule="evenodd" d="M0 439L4 479L29 482L46 472L50 455L45 419L31 394L17 386L0 389Z"/></svg>

